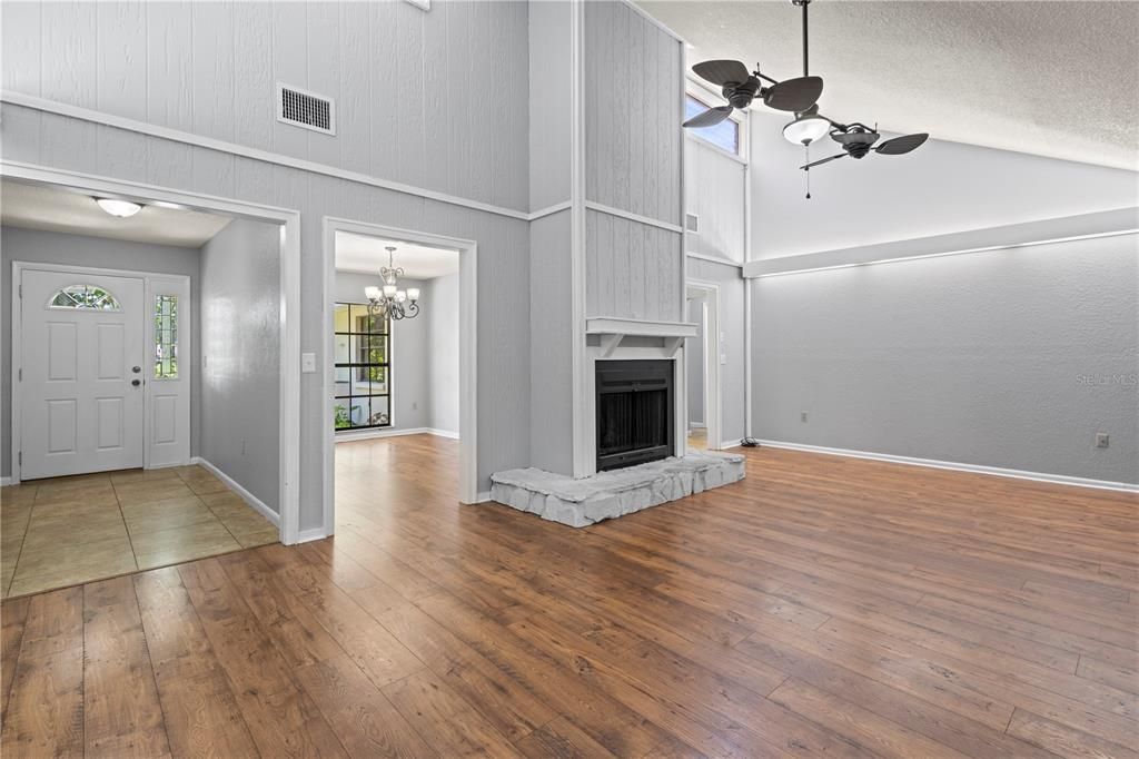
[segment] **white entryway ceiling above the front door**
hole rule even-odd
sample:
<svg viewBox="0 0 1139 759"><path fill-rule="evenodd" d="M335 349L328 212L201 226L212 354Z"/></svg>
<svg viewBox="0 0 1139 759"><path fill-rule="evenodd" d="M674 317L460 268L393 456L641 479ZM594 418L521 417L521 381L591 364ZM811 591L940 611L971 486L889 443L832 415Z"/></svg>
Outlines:
<svg viewBox="0 0 1139 759"><path fill-rule="evenodd" d="M228 217L157 205L145 206L128 219L117 219L96 205L95 198L85 193L7 179L0 187L0 221L9 227L202 247L230 221Z"/></svg>

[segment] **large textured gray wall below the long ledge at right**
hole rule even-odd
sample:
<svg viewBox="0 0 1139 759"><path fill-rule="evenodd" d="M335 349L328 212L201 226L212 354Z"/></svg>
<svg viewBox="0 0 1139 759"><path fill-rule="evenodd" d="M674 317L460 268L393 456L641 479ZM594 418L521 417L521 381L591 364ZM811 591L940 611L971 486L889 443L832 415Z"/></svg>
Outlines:
<svg viewBox="0 0 1139 759"><path fill-rule="evenodd" d="M756 436L1139 482L1136 236L752 283Z"/></svg>

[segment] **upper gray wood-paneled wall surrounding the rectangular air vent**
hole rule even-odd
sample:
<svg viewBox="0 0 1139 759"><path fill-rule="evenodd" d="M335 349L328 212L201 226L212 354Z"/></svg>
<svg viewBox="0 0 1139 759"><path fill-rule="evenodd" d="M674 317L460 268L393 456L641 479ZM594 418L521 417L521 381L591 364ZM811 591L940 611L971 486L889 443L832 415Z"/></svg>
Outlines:
<svg viewBox="0 0 1139 759"><path fill-rule="evenodd" d="M528 210L527 3L16 1L0 13L5 90ZM336 136L278 122L277 81L335 99Z"/></svg>

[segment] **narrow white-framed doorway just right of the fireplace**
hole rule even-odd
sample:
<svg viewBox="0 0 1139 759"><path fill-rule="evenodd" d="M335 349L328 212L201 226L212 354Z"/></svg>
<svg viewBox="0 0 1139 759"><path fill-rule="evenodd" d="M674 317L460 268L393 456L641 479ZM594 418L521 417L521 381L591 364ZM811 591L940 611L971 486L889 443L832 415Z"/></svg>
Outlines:
<svg viewBox="0 0 1139 759"><path fill-rule="evenodd" d="M689 279L685 308L688 321L698 326L685 344L688 409L688 447L719 450L723 447L720 410L720 287Z"/></svg>

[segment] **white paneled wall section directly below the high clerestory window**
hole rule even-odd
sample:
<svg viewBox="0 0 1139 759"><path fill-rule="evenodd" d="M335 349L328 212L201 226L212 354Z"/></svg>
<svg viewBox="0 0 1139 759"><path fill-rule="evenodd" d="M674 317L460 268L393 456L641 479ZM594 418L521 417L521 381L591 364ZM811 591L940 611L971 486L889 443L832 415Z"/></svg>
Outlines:
<svg viewBox="0 0 1139 759"><path fill-rule="evenodd" d="M743 129L743 128L741 128ZM686 213L699 217L699 232L688 234L688 252L744 262L747 165L698 138L685 149Z"/></svg>

